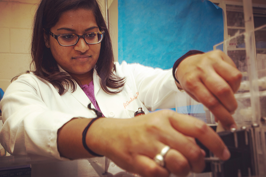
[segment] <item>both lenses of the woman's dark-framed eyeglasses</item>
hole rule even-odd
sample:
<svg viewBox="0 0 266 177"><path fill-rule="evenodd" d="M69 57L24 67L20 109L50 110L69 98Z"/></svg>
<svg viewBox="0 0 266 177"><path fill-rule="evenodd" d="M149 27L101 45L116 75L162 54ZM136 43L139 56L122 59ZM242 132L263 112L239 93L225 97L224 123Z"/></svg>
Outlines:
<svg viewBox="0 0 266 177"><path fill-rule="evenodd" d="M89 33L84 36L84 39L89 44L96 44L102 40L103 34L101 33ZM61 45L74 45L77 43L78 36L74 34L67 34L58 36L58 42Z"/></svg>

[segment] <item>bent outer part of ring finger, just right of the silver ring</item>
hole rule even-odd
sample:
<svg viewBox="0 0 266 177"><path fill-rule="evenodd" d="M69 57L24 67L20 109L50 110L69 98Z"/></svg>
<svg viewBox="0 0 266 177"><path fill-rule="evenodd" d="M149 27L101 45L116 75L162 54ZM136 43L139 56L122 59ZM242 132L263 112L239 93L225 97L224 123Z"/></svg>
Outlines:
<svg viewBox="0 0 266 177"><path fill-rule="evenodd" d="M177 176L187 176L190 172L189 161L177 150L170 149L165 155L165 167Z"/></svg>

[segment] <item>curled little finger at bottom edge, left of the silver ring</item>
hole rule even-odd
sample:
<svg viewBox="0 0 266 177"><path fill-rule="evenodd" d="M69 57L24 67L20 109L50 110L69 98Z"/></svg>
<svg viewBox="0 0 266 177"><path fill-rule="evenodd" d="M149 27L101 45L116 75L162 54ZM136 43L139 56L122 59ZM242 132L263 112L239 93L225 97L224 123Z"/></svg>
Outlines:
<svg viewBox="0 0 266 177"><path fill-rule="evenodd" d="M137 155L134 159L134 173L140 174L143 177L167 177L169 171L166 168L158 165L153 159L145 155Z"/></svg>

